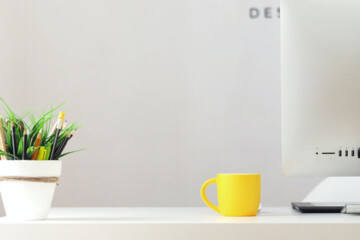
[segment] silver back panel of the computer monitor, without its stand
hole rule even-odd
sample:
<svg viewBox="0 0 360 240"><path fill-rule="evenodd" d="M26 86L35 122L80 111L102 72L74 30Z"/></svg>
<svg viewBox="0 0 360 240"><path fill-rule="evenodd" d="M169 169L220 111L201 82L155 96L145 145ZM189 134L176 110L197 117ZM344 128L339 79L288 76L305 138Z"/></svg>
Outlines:
<svg viewBox="0 0 360 240"><path fill-rule="evenodd" d="M282 168L360 174L360 1L281 1Z"/></svg>

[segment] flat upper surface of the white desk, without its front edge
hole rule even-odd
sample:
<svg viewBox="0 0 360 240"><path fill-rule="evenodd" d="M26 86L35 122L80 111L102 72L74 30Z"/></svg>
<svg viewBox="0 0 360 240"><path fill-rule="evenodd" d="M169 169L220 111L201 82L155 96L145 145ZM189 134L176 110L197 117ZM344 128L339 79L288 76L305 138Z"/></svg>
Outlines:
<svg viewBox="0 0 360 240"><path fill-rule="evenodd" d="M289 224L289 223L356 223L360 215L350 214L309 214L298 213L290 207L264 208L256 217L223 217L205 207L178 208L52 208L49 218L40 221L14 221L0 218L0 224L68 224L68 223L251 223L251 224ZM360 226L359 226L360 227Z"/></svg>

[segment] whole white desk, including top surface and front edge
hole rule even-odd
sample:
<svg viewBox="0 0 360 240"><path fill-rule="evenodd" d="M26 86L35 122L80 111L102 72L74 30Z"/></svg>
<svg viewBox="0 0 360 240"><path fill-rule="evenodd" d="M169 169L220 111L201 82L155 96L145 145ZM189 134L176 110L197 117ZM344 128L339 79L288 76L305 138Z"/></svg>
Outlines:
<svg viewBox="0 0 360 240"><path fill-rule="evenodd" d="M0 218L0 239L360 239L360 215L264 208L222 217L209 208L53 208L41 221Z"/></svg>

